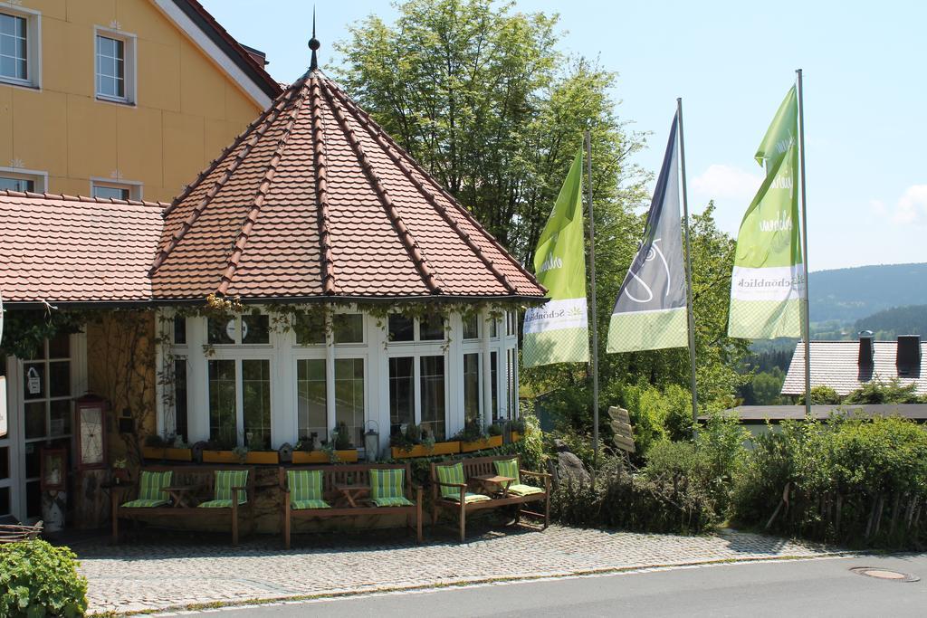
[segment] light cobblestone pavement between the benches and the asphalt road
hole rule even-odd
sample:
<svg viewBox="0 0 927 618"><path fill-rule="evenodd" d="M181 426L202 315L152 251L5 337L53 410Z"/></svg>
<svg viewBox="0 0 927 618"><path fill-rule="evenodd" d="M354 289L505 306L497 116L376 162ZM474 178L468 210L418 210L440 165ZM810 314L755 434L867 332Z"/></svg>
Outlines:
<svg viewBox="0 0 927 618"><path fill-rule="evenodd" d="M166 536L166 538L165 538ZM139 612L197 603L235 603L588 574L709 561L815 557L833 549L724 531L709 536L648 535L551 526L543 532L507 527L451 533L418 546L400 531L364 536L294 537L282 549L275 536L239 547L227 535L149 533L119 547L102 540L72 544L89 580L90 612Z"/></svg>

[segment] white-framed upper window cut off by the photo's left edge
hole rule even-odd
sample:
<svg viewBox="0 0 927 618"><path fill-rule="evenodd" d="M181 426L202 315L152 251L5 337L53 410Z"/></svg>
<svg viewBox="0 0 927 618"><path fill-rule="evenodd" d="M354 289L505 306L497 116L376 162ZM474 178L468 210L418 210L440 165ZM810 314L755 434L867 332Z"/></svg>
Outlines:
<svg viewBox="0 0 927 618"><path fill-rule="evenodd" d="M42 87L41 21L38 11L0 7L0 82Z"/></svg>

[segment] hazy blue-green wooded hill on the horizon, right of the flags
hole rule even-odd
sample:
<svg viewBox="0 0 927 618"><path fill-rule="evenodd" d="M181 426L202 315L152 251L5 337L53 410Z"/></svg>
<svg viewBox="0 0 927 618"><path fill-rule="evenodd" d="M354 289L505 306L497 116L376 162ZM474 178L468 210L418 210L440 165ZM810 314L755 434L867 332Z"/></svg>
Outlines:
<svg viewBox="0 0 927 618"><path fill-rule="evenodd" d="M927 305L927 264L812 272L808 286L812 325L835 321L850 326L883 309Z"/></svg>

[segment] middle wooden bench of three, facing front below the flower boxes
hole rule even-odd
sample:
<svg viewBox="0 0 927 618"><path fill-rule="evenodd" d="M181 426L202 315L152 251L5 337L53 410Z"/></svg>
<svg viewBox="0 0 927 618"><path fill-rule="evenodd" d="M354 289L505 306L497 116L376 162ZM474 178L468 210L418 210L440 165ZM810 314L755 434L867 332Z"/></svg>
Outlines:
<svg viewBox="0 0 927 618"><path fill-rule="evenodd" d="M330 508L293 509L290 504L290 488L286 483L286 471L321 471L322 499ZM403 470L404 497L412 506L375 506L364 494L370 490L371 470ZM281 466L280 490L284 496L283 531L284 545L290 548L290 531L296 518L355 517L359 515L405 515L406 525L413 528L418 542L422 542L422 488L413 486L412 469L409 463L359 463L319 466Z"/></svg>

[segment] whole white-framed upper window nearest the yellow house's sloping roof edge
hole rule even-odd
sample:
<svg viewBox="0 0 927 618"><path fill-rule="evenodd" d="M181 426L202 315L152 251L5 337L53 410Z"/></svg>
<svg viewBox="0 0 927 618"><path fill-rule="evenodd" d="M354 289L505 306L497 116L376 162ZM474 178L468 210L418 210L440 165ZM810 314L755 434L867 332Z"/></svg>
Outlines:
<svg viewBox="0 0 927 618"><path fill-rule="evenodd" d="M96 98L113 103L135 103L135 35L94 29Z"/></svg>

